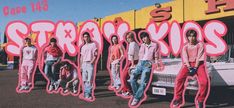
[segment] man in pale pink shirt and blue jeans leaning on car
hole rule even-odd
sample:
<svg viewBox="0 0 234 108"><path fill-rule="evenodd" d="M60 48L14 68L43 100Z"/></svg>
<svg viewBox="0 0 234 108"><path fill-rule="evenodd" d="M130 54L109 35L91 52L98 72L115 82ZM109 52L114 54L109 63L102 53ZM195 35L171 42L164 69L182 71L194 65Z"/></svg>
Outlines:
<svg viewBox="0 0 234 108"><path fill-rule="evenodd" d="M147 32L142 32L140 37L143 43L139 51L139 62L130 76L130 83L133 91L131 106L140 105L146 98L144 94L151 81L152 67L161 66L159 65L159 45L150 40L150 36ZM140 84L137 83L139 76L141 76Z"/></svg>

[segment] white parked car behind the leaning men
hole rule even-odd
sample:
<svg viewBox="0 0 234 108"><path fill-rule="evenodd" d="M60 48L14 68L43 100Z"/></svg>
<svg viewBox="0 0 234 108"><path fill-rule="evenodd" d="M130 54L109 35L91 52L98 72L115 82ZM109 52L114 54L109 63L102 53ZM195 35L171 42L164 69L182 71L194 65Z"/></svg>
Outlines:
<svg viewBox="0 0 234 108"><path fill-rule="evenodd" d="M230 61L229 51L219 57L209 57L206 62L207 71L210 78L211 87L230 87L234 86L234 62ZM212 58L216 58L213 60ZM151 92L155 95L166 95L174 93L175 79L180 72L182 60L180 58L163 59L164 70L154 71L151 83ZM198 81L196 78L188 79L187 90L189 93L196 93Z"/></svg>

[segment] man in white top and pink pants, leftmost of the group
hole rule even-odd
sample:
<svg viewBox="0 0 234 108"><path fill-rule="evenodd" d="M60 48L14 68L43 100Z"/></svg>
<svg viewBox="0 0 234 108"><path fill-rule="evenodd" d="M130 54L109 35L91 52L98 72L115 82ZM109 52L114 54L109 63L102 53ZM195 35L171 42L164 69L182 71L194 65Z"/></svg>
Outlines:
<svg viewBox="0 0 234 108"><path fill-rule="evenodd" d="M20 88L19 91L29 90L32 87L32 77L35 74L37 48L32 45L30 38L25 38L25 46L21 51Z"/></svg>

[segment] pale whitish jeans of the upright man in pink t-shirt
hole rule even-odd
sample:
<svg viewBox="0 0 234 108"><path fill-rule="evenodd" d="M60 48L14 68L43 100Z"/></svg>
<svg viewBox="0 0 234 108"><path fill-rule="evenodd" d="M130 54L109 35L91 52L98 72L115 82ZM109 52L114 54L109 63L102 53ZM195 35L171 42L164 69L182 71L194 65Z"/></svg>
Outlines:
<svg viewBox="0 0 234 108"><path fill-rule="evenodd" d="M91 63L82 63L82 81L84 86L84 95L91 96L93 89L93 70L94 66Z"/></svg>

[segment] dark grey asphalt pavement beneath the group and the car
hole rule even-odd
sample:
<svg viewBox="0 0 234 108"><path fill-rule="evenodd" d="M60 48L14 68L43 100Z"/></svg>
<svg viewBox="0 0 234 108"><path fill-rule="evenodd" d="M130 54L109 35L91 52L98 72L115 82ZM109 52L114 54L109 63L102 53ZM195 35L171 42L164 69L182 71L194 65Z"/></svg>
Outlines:
<svg viewBox="0 0 234 108"><path fill-rule="evenodd" d="M86 102L78 96L48 94L46 82L36 82L30 93L16 93L17 70L0 70L0 108L128 108L128 99L115 95L107 89L110 80L107 71L99 71L96 77L96 101ZM234 108L234 88L212 89L207 100L207 108ZM148 93L148 98L140 108L169 108L173 94L155 96ZM186 95L183 108L195 108L195 96Z"/></svg>

